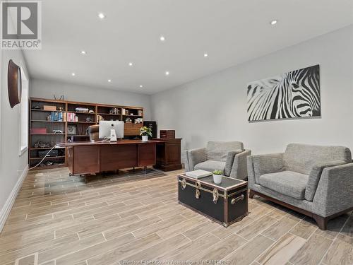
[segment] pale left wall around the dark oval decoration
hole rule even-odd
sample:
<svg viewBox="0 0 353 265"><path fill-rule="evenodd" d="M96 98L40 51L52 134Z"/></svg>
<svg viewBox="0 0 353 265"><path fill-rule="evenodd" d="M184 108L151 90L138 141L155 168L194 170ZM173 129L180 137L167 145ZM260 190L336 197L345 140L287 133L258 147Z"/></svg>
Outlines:
<svg viewBox="0 0 353 265"><path fill-rule="evenodd" d="M16 196L16 186L28 167L28 151L20 155L20 105L11 109L8 102L7 67L13 59L23 65L26 76L25 59L20 50L1 50L0 76L0 231L6 213L11 208L12 196ZM12 194L11 194L12 192Z"/></svg>

